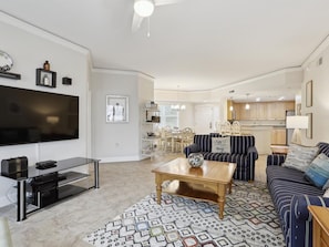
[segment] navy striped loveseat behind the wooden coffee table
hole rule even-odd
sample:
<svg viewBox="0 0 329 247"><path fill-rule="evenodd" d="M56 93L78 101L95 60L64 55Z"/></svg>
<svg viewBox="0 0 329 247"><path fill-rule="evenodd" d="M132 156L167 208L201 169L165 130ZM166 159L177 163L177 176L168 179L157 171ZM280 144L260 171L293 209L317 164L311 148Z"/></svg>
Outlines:
<svg viewBox="0 0 329 247"><path fill-rule="evenodd" d="M202 153L207 161L232 162L236 163L234 173L235 179L254 181L255 162L258 158L258 152L255 147L255 137L253 135L230 136L230 153L212 153L212 137L220 137L218 133L208 135L195 135L194 143L184 148L186 157L191 153Z"/></svg>

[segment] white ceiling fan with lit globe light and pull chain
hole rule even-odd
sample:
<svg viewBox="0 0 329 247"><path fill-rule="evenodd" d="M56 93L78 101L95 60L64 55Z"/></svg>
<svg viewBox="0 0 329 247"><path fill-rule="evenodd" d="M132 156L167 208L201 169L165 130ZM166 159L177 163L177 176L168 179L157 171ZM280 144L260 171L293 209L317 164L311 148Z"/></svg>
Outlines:
<svg viewBox="0 0 329 247"><path fill-rule="evenodd" d="M175 4L182 0L134 0L134 17L132 31L136 32L145 18L153 14L154 8L157 6ZM150 29L150 28L148 28ZM150 31L148 31L150 35Z"/></svg>

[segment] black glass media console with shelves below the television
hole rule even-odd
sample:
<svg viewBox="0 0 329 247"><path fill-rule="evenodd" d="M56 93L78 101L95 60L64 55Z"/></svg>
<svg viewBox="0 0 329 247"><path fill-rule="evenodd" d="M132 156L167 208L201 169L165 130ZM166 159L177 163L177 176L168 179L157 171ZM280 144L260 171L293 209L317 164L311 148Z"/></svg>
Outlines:
<svg viewBox="0 0 329 247"><path fill-rule="evenodd" d="M28 214L69 196L90 188L99 188L99 159L94 158L73 157L58 161L55 167L47 169L29 166L27 177L12 178L17 181L17 220L24 220ZM93 164L94 185L88 188L75 186L74 182L86 178L90 175L73 172L72 168L89 164ZM28 187L31 188L31 192L29 192ZM29 193L31 193L30 197L28 196ZM28 209L28 204L34 205L34 207Z"/></svg>

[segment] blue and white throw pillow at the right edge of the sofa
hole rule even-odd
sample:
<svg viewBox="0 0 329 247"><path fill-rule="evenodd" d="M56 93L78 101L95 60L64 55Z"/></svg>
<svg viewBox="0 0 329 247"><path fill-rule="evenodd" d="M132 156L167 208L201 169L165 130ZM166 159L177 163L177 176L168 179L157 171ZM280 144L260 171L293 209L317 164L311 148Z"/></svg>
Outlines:
<svg viewBox="0 0 329 247"><path fill-rule="evenodd" d="M319 154L305 171L305 178L322 188L329 178L329 157L326 154Z"/></svg>

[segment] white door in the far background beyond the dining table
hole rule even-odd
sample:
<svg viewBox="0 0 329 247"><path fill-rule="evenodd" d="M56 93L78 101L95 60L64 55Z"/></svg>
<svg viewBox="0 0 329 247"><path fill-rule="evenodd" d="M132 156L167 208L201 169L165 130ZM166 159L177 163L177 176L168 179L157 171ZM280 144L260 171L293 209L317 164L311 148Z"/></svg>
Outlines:
<svg viewBox="0 0 329 247"><path fill-rule="evenodd" d="M195 105L194 123L196 134L209 134L210 132L214 132L214 106Z"/></svg>

